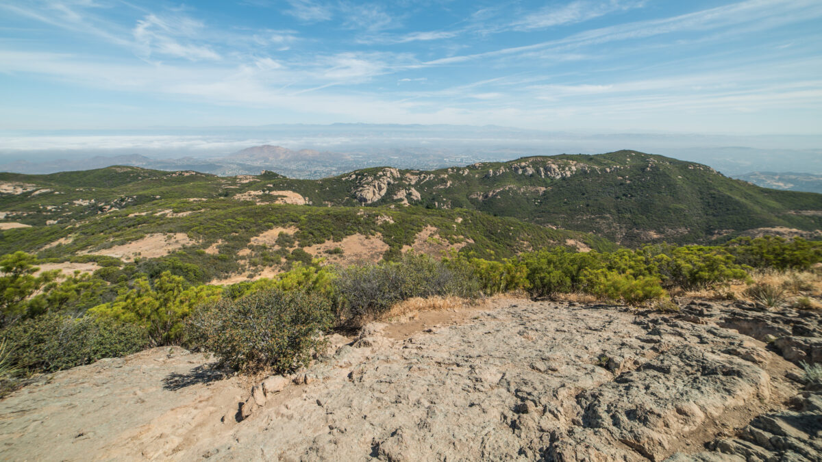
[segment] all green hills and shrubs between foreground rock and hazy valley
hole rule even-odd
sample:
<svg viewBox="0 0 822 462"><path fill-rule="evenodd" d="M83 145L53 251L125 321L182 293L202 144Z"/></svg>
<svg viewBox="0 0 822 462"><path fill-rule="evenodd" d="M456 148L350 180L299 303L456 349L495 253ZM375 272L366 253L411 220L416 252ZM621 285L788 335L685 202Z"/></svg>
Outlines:
<svg viewBox="0 0 822 462"><path fill-rule="evenodd" d="M819 241L737 237L790 227L813 238L820 197L628 151L322 180L4 173L0 381L168 344L289 372L320 351L318 333L412 298L516 291L672 310L683 291L736 297L730 284L755 270L822 261ZM778 304L790 289L815 307L805 285L745 297Z"/></svg>

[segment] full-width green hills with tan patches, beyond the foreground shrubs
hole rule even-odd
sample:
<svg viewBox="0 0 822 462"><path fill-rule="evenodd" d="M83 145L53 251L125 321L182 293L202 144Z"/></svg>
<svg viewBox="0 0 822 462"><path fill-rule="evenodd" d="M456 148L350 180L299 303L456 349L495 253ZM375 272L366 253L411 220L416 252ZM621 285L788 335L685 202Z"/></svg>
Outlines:
<svg viewBox="0 0 822 462"><path fill-rule="evenodd" d="M306 260L296 252L304 248L340 261L409 247L505 257L566 243L603 249L613 247L608 241L719 243L746 233L814 238L822 229L822 195L756 187L701 164L628 150L432 171L362 169L320 180L122 166L2 173L0 210L0 252L77 259L117 247L109 253L122 258L127 243L163 247L155 242L163 236L176 244L159 256L180 254L210 268L206 279ZM12 229L22 225L30 227ZM275 229L286 235L280 243ZM329 247L345 238L348 250Z"/></svg>

